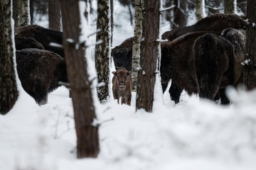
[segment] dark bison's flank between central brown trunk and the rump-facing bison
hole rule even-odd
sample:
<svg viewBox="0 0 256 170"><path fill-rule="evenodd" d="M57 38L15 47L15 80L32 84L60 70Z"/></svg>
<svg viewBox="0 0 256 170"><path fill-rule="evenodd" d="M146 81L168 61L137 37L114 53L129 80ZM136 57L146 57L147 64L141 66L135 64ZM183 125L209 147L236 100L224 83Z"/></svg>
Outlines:
<svg viewBox="0 0 256 170"><path fill-rule="evenodd" d="M198 94L193 43L208 32L198 31L183 35L172 42L161 43L161 85L163 92L171 79L169 89L171 100L179 102L181 91Z"/></svg>

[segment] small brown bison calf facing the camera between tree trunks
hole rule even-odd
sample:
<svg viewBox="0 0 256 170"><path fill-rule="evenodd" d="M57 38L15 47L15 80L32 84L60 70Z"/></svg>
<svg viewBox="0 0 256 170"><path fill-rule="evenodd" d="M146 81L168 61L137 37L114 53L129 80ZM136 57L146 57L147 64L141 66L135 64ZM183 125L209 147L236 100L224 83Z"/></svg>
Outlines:
<svg viewBox="0 0 256 170"><path fill-rule="evenodd" d="M118 69L117 72L112 72L114 77L112 79L112 90L114 99L117 99L119 103L119 98L122 97L121 103L131 106L132 100L132 77L131 72L127 71L125 68Z"/></svg>

